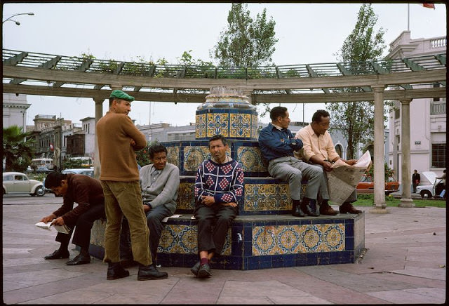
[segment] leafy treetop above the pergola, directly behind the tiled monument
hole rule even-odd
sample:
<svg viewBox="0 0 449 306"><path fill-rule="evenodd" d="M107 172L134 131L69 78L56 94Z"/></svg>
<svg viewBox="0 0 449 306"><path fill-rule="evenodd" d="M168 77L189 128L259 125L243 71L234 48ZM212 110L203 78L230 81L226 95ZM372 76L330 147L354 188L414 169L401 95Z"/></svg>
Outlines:
<svg viewBox="0 0 449 306"><path fill-rule="evenodd" d="M275 37L273 18L267 21L267 10L257 14L255 21L250 17L248 4L233 3L227 17L228 27L220 33L220 40L214 46L211 57L220 66L255 67L269 65Z"/></svg>

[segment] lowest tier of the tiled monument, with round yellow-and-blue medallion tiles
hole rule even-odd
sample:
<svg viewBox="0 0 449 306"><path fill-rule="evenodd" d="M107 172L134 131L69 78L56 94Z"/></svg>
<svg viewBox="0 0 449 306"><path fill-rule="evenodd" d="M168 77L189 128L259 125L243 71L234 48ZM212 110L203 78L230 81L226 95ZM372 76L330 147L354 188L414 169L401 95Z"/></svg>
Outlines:
<svg viewBox="0 0 449 306"><path fill-rule="evenodd" d="M104 255L105 221L95 221L91 254ZM158 264L192 267L198 260L196 220L169 218L158 249ZM239 215L229 229L223 254L213 269L255 270L270 267L354 262L365 247L365 214L295 218L291 215Z"/></svg>

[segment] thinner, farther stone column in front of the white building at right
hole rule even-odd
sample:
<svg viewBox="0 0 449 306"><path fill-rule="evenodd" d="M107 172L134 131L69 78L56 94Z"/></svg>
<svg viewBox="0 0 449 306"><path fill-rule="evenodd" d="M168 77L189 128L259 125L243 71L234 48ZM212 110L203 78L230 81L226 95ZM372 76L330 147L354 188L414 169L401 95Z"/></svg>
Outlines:
<svg viewBox="0 0 449 306"><path fill-rule="evenodd" d="M401 100L401 186L402 195L399 207L415 207L412 200L410 188L410 102L412 100Z"/></svg>

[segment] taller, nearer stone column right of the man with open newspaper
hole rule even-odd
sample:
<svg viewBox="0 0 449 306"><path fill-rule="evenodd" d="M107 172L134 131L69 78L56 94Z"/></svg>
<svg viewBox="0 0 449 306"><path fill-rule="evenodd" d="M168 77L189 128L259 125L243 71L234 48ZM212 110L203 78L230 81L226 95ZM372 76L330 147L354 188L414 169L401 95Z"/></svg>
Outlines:
<svg viewBox="0 0 449 306"><path fill-rule="evenodd" d="M385 204L384 85L374 91L374 205L370 213L389 213Z"/></svg>

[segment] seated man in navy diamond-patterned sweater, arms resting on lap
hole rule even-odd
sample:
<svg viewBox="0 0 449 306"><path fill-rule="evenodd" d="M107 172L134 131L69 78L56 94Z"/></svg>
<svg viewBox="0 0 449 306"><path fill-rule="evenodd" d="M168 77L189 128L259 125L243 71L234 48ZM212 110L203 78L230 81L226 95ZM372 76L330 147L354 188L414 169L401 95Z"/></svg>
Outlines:
<svg viewBox="0 0 449 306"><path fill-rule="evenodd" d="M228 148L222 135L210 138L210 159L196 171L194 216L198 220L200 261L190 271L199 278L210 277L209 260L222 252L243 196L243 170L238 161L226 155Z"/></svg>

